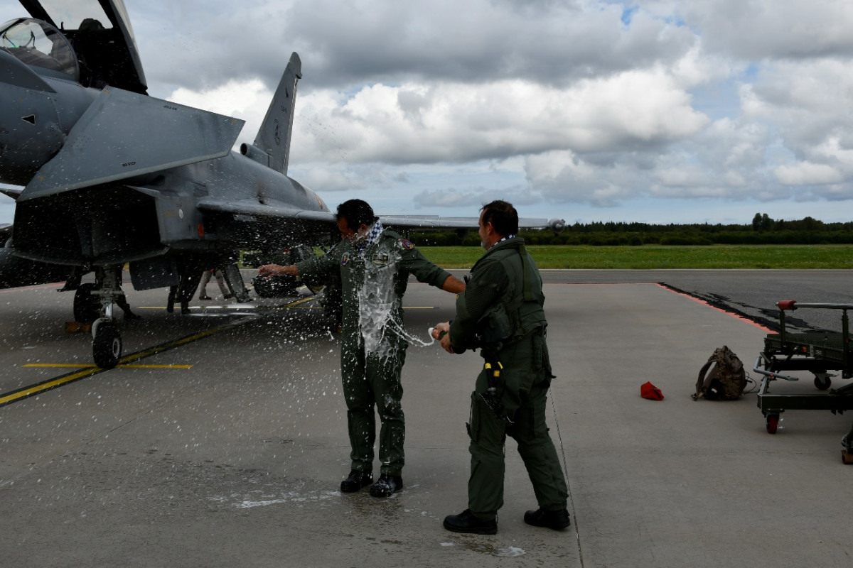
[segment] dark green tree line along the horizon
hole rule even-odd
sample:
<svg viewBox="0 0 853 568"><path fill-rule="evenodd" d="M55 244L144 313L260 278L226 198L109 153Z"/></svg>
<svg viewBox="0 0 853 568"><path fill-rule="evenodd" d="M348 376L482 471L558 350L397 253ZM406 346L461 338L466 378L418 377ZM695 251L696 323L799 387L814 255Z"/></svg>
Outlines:
<svg viewBox="0 0 853 568"><path fill-rule="evenodd" d="M521 231L527 244L587 244L594 246L711 245L711 244L853 244L853 221L824 223L812 217L798 221L774 220L756 213L745 225L595 221L567 225L559 235L543 229ZM479 246L479 235L471 232L411 232L420 245Z"/></svg>

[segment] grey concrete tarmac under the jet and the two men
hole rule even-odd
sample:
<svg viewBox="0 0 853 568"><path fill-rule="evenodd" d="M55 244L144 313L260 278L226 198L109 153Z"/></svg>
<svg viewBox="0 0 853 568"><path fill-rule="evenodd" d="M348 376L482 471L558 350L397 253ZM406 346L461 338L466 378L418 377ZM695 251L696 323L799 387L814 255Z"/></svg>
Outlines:
<svg viewBox="0 0 853 568"><path fill-rule="evenodd" d="M441 525L467 508L473 353L409 347L405 487L343 495L339 339L316 301L214 296L182 316L165 313L165 290L128 290L142 319L121 324L124 362L103 371L90 336L63 329L72 295L59 284L0 290L2 565L850 565L853 467L839 445L850 415L787 411L771 435L754 390L690 394L715 347L751 369L776 301L853 302L853 273L543 276L548 423L572 526L525 525L537 505L510 440L496 536ZM409 333L429 341L453 301L409 284ZM796 312L802 326L821 326L808 312ZM778 392L814 393L805 378ZM647 381L663 401L640 397Z"/></svg>

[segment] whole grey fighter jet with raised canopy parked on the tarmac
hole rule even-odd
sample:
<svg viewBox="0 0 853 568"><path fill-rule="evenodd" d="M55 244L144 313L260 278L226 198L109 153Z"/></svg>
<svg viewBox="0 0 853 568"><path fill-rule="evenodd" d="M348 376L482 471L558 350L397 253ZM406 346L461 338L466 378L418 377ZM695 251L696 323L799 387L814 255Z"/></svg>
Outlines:
<svg viewBox="0 0 853 568"><path fill-rule="evenodd" d="M334 214L287 176L299 55L254 142L235 152L243 121L147 95L122 0L20 3L32 17L0 26L0 182L23 186L0 188L15 199L13 227L0 232L11 233L0 287L65 280L75 319L93 322L97 365L121 358L113 305L125 265L135 290L170 287L188 301L212 267L229 267L226 278L244 290L241 250L304 251L333 238ZM79 284L89 272L95 284Z"/></svg>

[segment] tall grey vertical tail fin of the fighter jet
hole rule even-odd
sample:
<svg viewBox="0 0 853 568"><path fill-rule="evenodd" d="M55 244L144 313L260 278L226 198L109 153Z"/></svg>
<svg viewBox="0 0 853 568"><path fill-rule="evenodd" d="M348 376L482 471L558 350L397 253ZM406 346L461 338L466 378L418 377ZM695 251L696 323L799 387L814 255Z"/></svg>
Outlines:
<svg viewBox="0 0 853 568"><path fill-rule="evenodd" d="M267 155L267 165L272 169L287 174L287 162L290 159L290 136L293 132L293 107L296 104L296 83L302 78L302 61L294 51L287 63L287 69L278 83L276 95L273 96L270 108L264 117L264 123L258 129L255 141L248 148L241 147L241 152L249 158L257 159L257 150Z"/></svg>

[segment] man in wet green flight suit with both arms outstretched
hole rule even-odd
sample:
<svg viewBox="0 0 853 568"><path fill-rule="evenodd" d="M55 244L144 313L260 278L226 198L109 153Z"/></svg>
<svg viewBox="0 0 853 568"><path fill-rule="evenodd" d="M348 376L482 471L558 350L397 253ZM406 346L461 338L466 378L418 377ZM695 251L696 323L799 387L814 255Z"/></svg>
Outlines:
<svg viewBox="0 0 853 568"><path fill-rule="evenodd" d="M396 232L386 230L370 205L351 199L338 206L343 240L334 252L281 267L264 265L267 276L322 276L339 273L343 296L340 370L351 445L351 472L340 484L350 493L373 483L374 441L379 412L380 479L370 495L391 496L403 489L405 422L400 375L408 343L403 331L403 294L409 274L458 294L465 284L428 261Z"/></svg>

